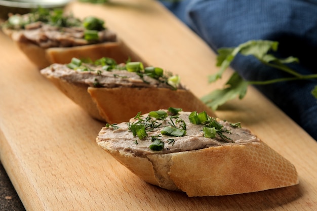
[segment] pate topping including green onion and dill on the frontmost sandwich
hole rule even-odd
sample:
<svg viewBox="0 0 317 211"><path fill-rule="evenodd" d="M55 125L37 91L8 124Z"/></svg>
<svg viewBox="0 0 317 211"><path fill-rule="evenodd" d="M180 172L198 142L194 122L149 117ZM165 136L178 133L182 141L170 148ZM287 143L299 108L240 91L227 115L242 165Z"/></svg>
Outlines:
<svg viewBox="0 0 317 211"><path fill-rule="evenodd" d="M182 109L138 113L130 122L106 124L97 140L108 148L129 151L136 156L204 149L212 146L259 142L240 123L209 117L206 112Z"/></svg>

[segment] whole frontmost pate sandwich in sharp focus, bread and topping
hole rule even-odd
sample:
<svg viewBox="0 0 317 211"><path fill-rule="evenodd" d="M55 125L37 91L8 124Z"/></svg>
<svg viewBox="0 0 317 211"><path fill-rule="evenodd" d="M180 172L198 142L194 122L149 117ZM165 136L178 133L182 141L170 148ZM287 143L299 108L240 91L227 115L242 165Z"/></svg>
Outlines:
<svg viewBox="0 0 317 211"><path fill-rule="evenodd" d="M299 183L294 165L240 123L181 109L106 124L96 141L144 181L188 196L249 193Z"/></svg>

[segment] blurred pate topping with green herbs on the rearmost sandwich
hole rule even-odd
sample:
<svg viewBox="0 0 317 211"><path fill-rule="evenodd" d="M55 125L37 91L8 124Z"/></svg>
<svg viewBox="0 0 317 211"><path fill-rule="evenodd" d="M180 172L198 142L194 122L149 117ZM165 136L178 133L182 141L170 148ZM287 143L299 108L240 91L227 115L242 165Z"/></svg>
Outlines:
<svg viewBox="0 0 317 211"><path fill-rule="evenodd" d="M11 14L3 27L14 30L16 41L31 42L41 48L74 47L116 41L116 34L93 16L84 20L63 14L63 10L38 8L32 13Z"/></svg>

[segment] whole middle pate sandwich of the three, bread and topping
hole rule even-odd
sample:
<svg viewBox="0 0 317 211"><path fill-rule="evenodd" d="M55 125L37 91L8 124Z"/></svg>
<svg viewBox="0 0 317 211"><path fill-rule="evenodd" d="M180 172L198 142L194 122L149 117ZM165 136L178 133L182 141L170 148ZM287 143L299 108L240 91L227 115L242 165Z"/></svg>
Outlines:
<svg viewBox="0 0 317 211"><path fill-rule="evenodd" d="M41 73L92 117L108 123L129 121L139 111L168 107L206 110L215 116L181 85L177 75L159 67L144 67L142 62L73 58L69 64L52 64Z"/></svg>

